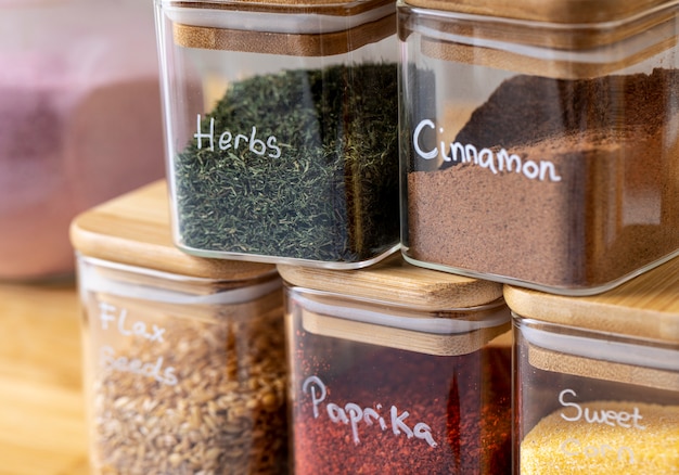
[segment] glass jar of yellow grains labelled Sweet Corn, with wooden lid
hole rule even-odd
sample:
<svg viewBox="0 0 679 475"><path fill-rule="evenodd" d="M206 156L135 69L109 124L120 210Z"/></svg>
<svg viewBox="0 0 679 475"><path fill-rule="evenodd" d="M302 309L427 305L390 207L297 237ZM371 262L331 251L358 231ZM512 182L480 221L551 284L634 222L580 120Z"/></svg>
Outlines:
<svg viewBox="0 0 679 475"><path fill-rule="evenodd" d="M679 259L597 296L507 286L515 473L679 473Z"/></svg>

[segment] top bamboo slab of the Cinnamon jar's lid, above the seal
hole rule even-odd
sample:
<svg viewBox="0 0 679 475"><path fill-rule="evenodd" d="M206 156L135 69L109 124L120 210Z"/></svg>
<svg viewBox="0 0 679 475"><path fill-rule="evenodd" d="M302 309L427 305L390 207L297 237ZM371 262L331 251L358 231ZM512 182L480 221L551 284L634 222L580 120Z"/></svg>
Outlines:
<svg viewBox="0 0 679 475"><path fill-rule="evenodd" d="M412 7L550 23L614 22L669 0L406 0Z"/></svg>

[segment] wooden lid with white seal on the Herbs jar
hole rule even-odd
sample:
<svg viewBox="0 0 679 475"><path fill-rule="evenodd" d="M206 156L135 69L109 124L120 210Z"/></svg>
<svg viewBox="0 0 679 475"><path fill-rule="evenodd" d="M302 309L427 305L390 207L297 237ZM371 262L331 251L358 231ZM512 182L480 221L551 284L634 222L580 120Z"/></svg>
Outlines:
<svg viewBox="0 0 679 475"><path fill-rule="evenodd" d="M185 48L329 56L396 34L393 0L320 1L311 5L297 0L169 2L168 5L174 41ZM209 13L206 9L210 9ZM298 22L293 15L298 15ZM283 20L286 16L293 20ZM320 17L335 22L333 26L323 26ZM316 20L308 24L306 18ZM248 27L243 28L244 24Z"/></svg>

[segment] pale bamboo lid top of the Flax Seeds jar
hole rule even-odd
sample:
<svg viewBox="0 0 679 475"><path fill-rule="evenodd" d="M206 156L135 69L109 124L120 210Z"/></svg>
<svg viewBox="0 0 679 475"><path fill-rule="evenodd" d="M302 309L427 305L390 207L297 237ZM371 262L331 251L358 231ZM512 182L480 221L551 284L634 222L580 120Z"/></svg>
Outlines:
<svg viewBox="0 0 679 475"><path fill-rule="evenodd" d="M172 243L165 180L77 216L71 242L87 257L184 277L246 280L271 273L272 265L190 256Z"/></svg>

